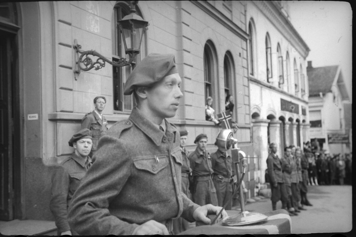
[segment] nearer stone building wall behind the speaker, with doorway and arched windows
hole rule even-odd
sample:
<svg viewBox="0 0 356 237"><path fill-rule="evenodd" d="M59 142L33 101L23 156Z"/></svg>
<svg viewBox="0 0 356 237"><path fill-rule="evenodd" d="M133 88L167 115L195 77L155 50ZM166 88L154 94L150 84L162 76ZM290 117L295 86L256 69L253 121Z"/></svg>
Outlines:
<svg viewBox="0 0 356 237"><path fill-rule="evenodd" d="M187 129L188 150L194 138L208 135L216 150L220 128L205 120L205 99L213 97L216 113L234 97L232 115L239 126L234 137L253 156L248 75L246 1L139 1L137 14L149 22L141 53L176 55L182 98L176 117ZM252 4L253 6L253 4ZM95 96L106 97L109 126L129 117L135 105L122 88L133 66L75 71L75 40L83 50L96 50L112 61L123 53L116 21L129 14L127 1L39 1L2 3L0 16L4 185L1 220L53 220L48 204L51 166L72 152L68 140L80 120L94 109ZM259 42L258 42L259 43ZM96 60L96 59L94 59ZM6 94L5 94L6 92ZM261 114L261 116L264 116ZM4 149L3 149L4 147ZM255 195L256 159L248 159L248 197Z"/></svg>

